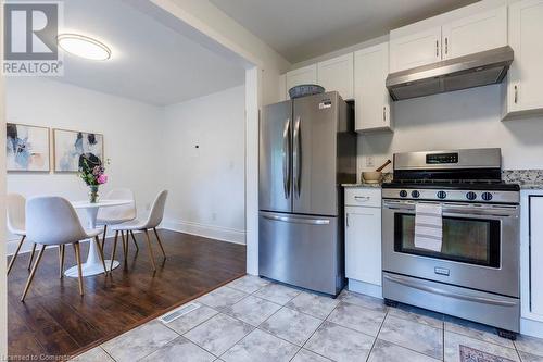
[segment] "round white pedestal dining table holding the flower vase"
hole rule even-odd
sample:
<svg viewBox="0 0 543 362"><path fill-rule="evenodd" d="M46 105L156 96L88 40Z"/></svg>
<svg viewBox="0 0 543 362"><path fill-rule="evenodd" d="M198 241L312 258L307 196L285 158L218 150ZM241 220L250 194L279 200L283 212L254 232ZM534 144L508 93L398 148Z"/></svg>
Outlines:
<svg viewBox="0 0 543 362"><path fill-rule="evenodd" d="M132 200L103 200L98 202L73 201L72 205L74 207L74 209L79 209L79 210L85 209L85 211L87 212L89 228L94 229L97 227L97 216L98 216L98 210L100 208L118 207L123 204L128 204L130 202L132 202ZM114 260L112 269L117 267L118 264L119 262ZM110 269L110 266L111 266L111 260L106 260L105 267L108 269L108 271L112 270ZM83 276L91 276L102 273L103 273L103 264L102 261L100 260L100 253L98 251L96 242L93 240L90 240L89 254L87 257L87 261L81 265L81 274ZM76 278L78 276L77 265L66 270L64 272L64 275Z"/></svg>

